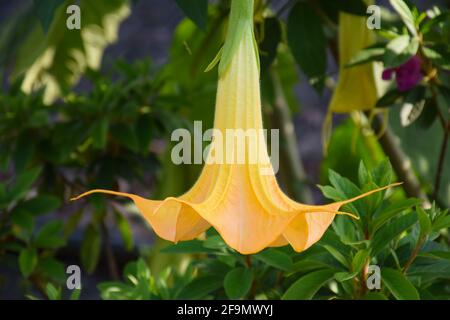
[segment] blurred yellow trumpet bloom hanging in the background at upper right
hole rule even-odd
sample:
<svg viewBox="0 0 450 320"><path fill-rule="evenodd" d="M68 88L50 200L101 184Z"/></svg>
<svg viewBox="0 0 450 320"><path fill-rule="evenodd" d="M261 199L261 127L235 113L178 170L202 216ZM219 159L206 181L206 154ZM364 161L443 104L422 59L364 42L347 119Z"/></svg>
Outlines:
<svg viewBox="0 0 450 320"><path fill-rule="evenodd" d="M330 111L345 113L370 110L377 101L374 64L346 67L360 50L373 44L374 35L366 18L339 14L339 79L330 103Z"/></svg>

